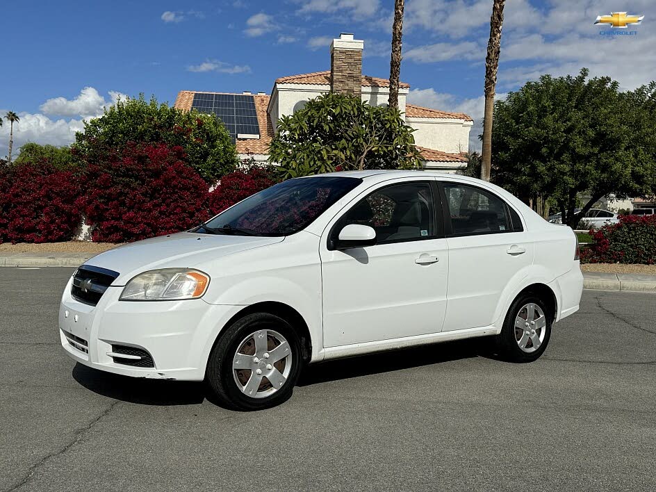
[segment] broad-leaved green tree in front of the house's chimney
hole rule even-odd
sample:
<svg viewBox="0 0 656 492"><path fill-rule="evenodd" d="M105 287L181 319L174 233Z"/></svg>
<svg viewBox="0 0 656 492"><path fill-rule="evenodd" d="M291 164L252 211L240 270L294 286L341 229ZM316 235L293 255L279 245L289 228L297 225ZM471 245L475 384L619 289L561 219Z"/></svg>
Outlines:
<svg viewBox="0 0 656 492"><path fill-rule="evenodd" d="M420 165L401 113L359 97L328 93L278 122L269 160L284 178L321 172L407 169Z"/></svg>

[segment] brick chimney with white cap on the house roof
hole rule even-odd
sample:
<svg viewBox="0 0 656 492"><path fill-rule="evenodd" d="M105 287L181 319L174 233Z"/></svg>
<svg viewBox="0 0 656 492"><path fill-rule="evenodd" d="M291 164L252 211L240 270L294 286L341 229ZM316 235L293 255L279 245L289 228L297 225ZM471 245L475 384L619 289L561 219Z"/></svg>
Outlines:
<svg viewBox="0 0 656 492"><path fill-rule="evenodd" d="M359 96L362 90L364 42L351 33L341 33L330 45L330 90Z"/></svg>

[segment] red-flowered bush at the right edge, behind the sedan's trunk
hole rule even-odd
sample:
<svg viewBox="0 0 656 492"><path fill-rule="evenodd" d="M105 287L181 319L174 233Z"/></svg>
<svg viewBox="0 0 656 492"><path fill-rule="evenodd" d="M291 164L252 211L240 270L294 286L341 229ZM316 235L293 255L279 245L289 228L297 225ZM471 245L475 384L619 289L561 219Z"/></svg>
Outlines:
<svg viewBox="0 0 656 492"><path fill-rule="evenodd" d="M656 263L656 215L621 215L617 224L590 231L582 263Z"/></svg>

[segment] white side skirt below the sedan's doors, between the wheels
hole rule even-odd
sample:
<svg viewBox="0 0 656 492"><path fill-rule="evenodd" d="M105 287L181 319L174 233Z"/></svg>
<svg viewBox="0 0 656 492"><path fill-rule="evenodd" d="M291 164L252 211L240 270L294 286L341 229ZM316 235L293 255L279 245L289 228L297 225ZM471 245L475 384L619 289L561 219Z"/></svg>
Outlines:
<svg viewBox="0 0 656 492"><path fill-rule="evenodd" d="M497 335L500 329L494 326L456 329L452 331L441 331L427 335L404 336L403 338L392 338L391 340L379 340L375 342L352 343L351 345L339 345L338 347L326 347L312 362L327 361L328 359L339 359L372 352L384 352L386 350L397 350L417 345L428 345L429 343L448 342L461 340L462 338L473 338L476 336Z"/></svg>

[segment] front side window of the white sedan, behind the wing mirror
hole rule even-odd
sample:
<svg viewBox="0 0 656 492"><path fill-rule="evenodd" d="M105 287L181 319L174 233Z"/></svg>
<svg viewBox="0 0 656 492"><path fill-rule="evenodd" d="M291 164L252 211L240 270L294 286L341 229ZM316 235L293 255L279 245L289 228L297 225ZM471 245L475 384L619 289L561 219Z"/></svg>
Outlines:
<svg viewBox="0 0 656 492"><path fill-rule="evenodd" d="M377 243L427 239L436 236L433 194L429 183L401 183L376 190L340 220L364 224L376 231Z"/></svg>

